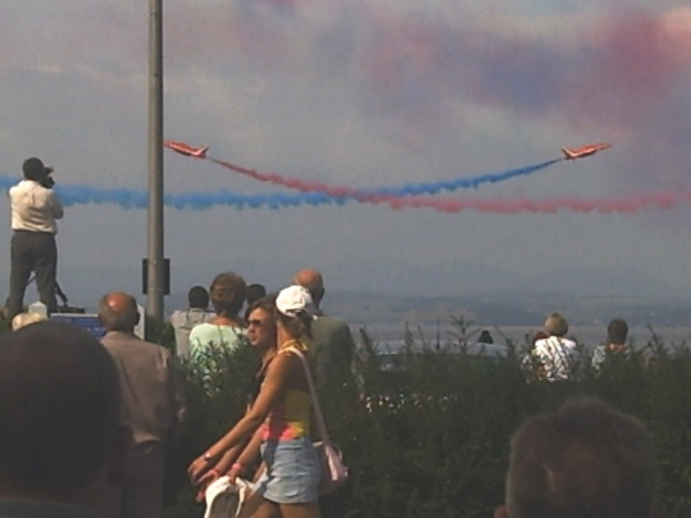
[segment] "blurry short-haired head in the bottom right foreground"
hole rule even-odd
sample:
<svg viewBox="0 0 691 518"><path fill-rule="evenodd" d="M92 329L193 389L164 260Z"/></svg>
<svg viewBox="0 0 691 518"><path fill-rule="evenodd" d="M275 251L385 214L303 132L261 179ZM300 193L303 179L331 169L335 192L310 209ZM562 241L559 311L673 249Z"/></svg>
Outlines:
<svg viewBox="0 0 691 518"><path fill-rule="evenodd" d="M515 432L506 507L495 517L650 518L658 477L641 421L599 399L567 401Z"/></svg>

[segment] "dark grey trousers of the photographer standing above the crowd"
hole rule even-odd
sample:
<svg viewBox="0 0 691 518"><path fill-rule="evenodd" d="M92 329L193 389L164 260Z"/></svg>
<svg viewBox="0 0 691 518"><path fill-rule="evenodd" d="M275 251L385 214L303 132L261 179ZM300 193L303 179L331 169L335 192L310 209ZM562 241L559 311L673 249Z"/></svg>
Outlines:
<svg viewBox="0 0 691 518"><path fill-rule="evenodd" d="M47 232L15 231L10 244L10 320L23 311L24 292L31 272L36 274L36 285L41 302L48 313L57 309L55 300L55 273L57 271L57 247L55 236Z"/></svg>

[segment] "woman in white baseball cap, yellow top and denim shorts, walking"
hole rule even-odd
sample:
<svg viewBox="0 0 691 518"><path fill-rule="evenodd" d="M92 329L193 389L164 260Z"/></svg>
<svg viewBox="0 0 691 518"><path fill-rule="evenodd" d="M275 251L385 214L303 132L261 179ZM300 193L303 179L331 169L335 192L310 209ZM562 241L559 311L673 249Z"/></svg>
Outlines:
<svg viewBox="0 0 691 518"><path fill-rule="evenodd" d="M191 481L198 483L229 448L242 445L255 432L261 434L266 470L256 482L255 494L261 503L252 515L255 518L321 517L321 463L311 439L310 389L301 360L292 352L298 349L309 358L315 311L305 288L281 290L275 309L278 352L267 368L258 396L247 414L188 470ZM247 456L243 453L242 457ZM228 475L234 479L243 471L244 466L235 463Z"/></svg>

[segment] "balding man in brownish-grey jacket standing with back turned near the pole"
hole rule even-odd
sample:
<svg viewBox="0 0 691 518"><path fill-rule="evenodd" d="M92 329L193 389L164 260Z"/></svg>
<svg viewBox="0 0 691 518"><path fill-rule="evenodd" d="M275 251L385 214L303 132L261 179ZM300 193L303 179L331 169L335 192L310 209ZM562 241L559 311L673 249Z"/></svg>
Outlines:
<svg viewBox="0 0 691 518"><path fill-rule="evenodd" d="M113 488L112 518L162 518L165 457L177 448L186 405L173 356L134 334L139 320L135 299L122 292L104 296L99 317L107 333L102 343L120 372L124 421L134 446L122 490Z"/></svg>

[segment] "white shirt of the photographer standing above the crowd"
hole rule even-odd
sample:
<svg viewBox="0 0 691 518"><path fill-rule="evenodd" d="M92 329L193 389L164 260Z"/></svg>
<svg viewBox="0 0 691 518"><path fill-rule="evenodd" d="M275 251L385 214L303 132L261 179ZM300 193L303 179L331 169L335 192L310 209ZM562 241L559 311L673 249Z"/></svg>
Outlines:
<svg viewBox="0 0 691 518"><path fill-rule="evenodd" d="M57 233L63 216L62 205L53 189L46 189L34 180L21 180L10 189L12 230Z"/></svg>

